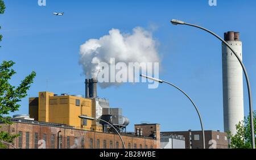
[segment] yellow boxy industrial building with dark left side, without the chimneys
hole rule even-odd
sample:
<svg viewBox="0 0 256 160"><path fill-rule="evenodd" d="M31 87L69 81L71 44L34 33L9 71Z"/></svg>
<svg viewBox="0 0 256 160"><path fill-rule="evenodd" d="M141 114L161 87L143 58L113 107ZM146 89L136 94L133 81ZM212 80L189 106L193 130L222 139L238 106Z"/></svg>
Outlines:
<svg viewBox="0 0 256 160"><path fill-rule="evenodd" d="M96 121L83 120L79 116L96 116L95 98L75 95L55 95L53 92L39 92L38 97L29 99L29 114L37 121L57 123L102 132Z"/></svg>

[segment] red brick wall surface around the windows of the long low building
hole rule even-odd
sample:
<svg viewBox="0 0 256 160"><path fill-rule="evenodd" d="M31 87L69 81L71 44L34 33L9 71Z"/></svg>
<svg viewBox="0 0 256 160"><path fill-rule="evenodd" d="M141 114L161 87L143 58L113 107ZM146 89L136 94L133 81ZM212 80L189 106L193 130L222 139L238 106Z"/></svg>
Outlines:
<svg viewBox="0 0 256 160"><path fill-rule="evenodd" d="M37 124L27 124L27 123L13 123L11 125L2 125L1 130L5 130L11 134L18 134L22 132L22 138L15 138L14 146L16 148L26 148L29 144L29 148L35 148L35 133L38 133L38 148L43 148L44 141L43 138L46 136L46 148L52 148L52 144L54 148L57 148L57 132L61 130L60 136L62 136L62 148L110 148L110 143L112 142L113 148L122 148L122 141L119 138L118 134L110 134L110 133L101 133L101 132L92 132L86 130L79 129L69 129L69 128L59 128L59 127L49 127L44 125ZM29 139L26 138L26 132L29 133ZM45 136L44 136L45 135ZM54 141L52 139L54 137ZM69 144L67 138L69 137ZM157 140L152 138L140 138L134 136L124 136L122 135L123 141L125 142L126 148L134 148L136 146L137 149L144 149L147 147L157 148L158 142ZM21 141L20 141L21 140ZM27 141L26 143L26 140ZM83 141L84 140L84 141ZM98 141L97 141L98 140ZM42 143L40 143L42 142ZM82 144L83 142L83 144ZM104 142L106 145L104 145ZM160 143L160 141L159 141ZM19 144L22 144L19 146ZM27 145L26 145L27 144ZM97 145L99 144L99 145ZM136 145L135 145L136 144ZM10 147L11 148L11 147Z"/></svg>

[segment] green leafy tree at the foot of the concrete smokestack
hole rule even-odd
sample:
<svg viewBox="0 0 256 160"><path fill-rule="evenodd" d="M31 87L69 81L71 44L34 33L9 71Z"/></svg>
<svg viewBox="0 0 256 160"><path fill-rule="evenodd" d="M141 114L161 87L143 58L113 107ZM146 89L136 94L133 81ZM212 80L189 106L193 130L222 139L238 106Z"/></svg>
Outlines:
<svg viewBox="0 0 256 160"><path fill-rule="evenodd" d="M254 121L254 128L256 127L256 114L255 111L253 112L253 121ZM228 137L230 139L229 148L233 149L250 149L251 148L251 125L250 125L250 115L245 117L243 121L240 121L236 125L237 133L232 135L228 133ZM254 133L255 129L254 129ZM255 137L254 137L255 138Z"/></svg>

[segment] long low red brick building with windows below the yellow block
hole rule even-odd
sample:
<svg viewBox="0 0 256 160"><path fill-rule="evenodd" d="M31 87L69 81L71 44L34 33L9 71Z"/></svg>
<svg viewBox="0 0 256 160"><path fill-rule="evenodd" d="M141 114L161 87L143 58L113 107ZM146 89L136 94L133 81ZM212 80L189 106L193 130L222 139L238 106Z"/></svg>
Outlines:
<svg viewBox="0 0 256 160"><path fill-rule="evenodd" d="M76 129L67 125L44 123L32 120L13 120L13 124L1 124L0 130L10 134L19 134L13 145L22 149L103 149L123 148L118 134L93 132ZM145 134L121 133L126 149L155 149L160 148L159 124L141 124ZM61 132L59 132L61 131ZM59 138L57 133L59 132ZM154 133L152 135L148 133ZM11 148L11 146L9 146Z"/></svg>

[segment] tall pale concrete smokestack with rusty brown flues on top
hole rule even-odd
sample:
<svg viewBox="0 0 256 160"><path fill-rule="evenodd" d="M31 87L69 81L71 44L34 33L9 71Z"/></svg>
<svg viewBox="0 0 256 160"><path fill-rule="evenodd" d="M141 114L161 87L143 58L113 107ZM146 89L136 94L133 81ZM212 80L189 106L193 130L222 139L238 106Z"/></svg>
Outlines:
<svg viewBox="0 0 256 160"><path fill-rule="evenodd" d="M239 32L224 33L225 41L242 60ZM222 85L224 132L236 134L236 124L243 120L243 72L237 57L222 43Z"/></svg>

